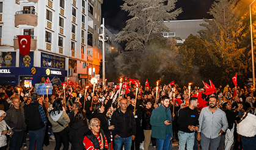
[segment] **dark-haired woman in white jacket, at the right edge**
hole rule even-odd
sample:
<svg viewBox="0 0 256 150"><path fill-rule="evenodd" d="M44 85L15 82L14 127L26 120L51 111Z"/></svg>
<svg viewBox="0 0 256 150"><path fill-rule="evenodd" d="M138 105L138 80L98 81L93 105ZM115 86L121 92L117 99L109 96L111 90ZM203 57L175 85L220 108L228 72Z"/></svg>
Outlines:
<svg viewBox="0 0 256 150"><path fill-rule="evenodd" d="M241 135L244 150L256 149L256 108L250 107L238 123L237 133Z"/></svg>

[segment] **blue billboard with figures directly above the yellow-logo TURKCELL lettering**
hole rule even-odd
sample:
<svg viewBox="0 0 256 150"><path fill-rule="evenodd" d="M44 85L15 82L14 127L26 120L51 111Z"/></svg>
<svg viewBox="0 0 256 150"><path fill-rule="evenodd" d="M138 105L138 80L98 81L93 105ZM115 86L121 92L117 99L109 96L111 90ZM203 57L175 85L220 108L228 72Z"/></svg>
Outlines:
<svg viewBox="0 0 256 150"><path fill-rule="evenodd" d="M41 52L41 67L65 70L65 57Z"/></svg>

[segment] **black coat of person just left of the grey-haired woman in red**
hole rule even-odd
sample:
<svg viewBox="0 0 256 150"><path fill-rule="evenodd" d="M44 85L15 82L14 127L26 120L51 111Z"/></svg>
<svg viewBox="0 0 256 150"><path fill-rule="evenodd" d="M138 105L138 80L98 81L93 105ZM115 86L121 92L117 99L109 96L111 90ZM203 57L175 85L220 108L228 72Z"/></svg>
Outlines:
<svg viewBox="0 0 256 150"><path fill-rule="evenodd" d="M86 126L86 123L84 123L84 120L77 121L72 124L70 129L70 141L72 143L72 150L75 149L84 149L84 145L82 144L82 141L84 140L84 135L89 132L88 127Z"/></svg>

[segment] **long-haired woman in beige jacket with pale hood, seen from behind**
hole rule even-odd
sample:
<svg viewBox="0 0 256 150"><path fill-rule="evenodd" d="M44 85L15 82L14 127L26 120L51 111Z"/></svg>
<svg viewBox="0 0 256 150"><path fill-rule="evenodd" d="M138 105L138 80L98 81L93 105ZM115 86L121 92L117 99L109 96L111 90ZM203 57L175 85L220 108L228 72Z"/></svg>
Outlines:
<svg viewBox="0 0 256 150"><path fill-rule="evenodd" d="M57 98L53 102L53 109L48 114L49 121L53 125L53 134L56 140L56 146L54 150L59 150L62 143L64 145L64 150L68 149L68 131L66 127L70 122L67 113L62 107L62 99Z"/></svg>

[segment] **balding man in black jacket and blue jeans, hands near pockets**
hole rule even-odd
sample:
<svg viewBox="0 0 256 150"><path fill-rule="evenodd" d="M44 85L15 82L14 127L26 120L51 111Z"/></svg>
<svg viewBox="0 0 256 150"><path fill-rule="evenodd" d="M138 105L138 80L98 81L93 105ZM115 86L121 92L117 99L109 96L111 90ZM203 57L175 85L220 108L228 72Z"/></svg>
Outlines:
<svg viewBox="0 0 256 150"><path fill-rule="evenodd" d="M115 110L111 118L111 125L115 126L112 130L114 136L115 150L120 150L125 145L126 150L131 149L131 141L136 135L136 123L133 112L127 109L127 99L121 99L120 108Z"/></svg>

